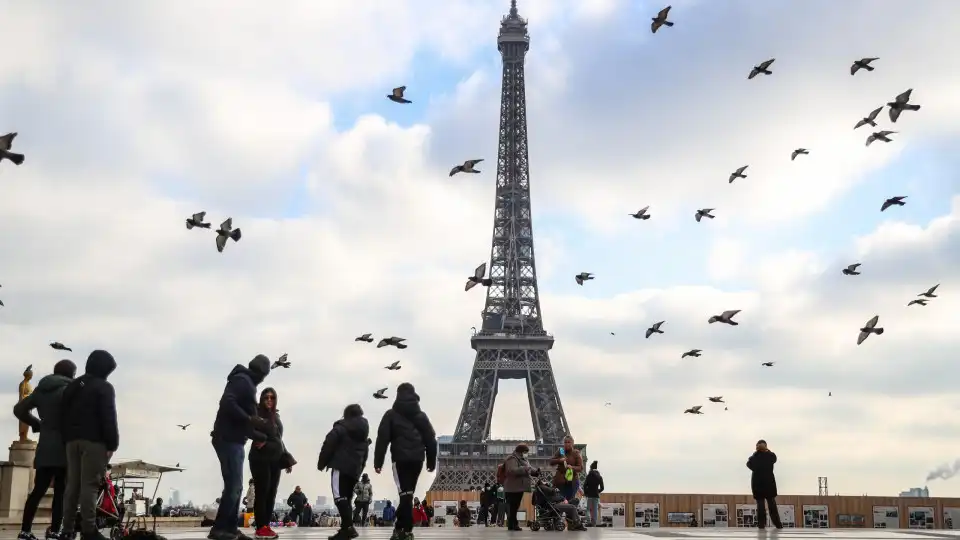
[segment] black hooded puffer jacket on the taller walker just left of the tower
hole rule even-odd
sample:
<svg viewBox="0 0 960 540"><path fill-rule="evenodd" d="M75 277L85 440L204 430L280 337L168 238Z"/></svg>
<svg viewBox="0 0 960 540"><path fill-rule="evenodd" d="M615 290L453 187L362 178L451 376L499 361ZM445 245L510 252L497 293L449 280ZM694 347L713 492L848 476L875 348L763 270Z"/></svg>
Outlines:
<svg viewBox="0 0 960 540"><path fill-rule="evenodd" d="M397 397L380 420L377 429L377 444L373 454L373 466L383 468L387 446L394 463L423 463L427 469L437 466L437 434L427 415L420 410L420 396L412 384L397 387Z"/></svg>

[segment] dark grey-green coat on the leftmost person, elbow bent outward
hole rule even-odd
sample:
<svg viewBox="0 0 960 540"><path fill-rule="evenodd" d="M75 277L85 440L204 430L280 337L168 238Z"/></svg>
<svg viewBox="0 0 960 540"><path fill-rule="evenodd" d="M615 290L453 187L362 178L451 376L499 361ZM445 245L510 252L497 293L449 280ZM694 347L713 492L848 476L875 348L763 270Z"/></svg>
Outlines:
<svg viewBox="0 0 960 540"><path fill-rule="evenodd" d="M60 434L63 411L61 403L63 391L72 381L73 379L65 375L47 375L40 379L32 394L13 407L13 415L17 420L40 433L37 453L33 459L33 466L37 469L67 466L67 454ZM30 414L34 409L40 418Z"/></svg>

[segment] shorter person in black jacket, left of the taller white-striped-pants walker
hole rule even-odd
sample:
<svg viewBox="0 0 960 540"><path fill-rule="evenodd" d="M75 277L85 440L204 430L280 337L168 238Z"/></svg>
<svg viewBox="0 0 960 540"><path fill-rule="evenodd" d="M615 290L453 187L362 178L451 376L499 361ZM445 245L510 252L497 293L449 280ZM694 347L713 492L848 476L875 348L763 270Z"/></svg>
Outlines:
<svg viewBox="0 0 960 540"><path fill-rule="evenodd" d="M333 423L320 447L317 469L330 469L330 491L340 512L340 530L330 540L349 540L359 536L353 527L350 499L360 473L367 466L370 451L370 424L360 405L347 405L343 418Z"/></svg>

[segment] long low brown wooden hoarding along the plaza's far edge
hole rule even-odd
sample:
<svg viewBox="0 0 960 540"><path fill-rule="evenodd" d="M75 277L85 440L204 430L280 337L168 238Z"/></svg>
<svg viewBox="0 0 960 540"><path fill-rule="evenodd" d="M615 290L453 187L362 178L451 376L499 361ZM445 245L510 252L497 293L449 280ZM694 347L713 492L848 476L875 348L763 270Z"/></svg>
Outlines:
<svg viewBox="0 0 960 540"><path fill-rule="evenodd" d="M476 501L480 494L476 491L428 491L427 504L433 501ZM736 527L736 508L738 504L754 504L750 495L692 495L667 493L604 493L600 497L602 503L624 503L626 526L634 526L634 503L659 503L660 527L684 527L685 525L670 525L667 523L667 514L670 512L694 512L701 519L704 504L726 504L731 516L730 527ZM932 507L934 528L943 529L943 509L952 508L960 512L960 498L958 497L863 497L850 495L781 495L777 497L777 504L792 504L796 513L797 527L803 527L803 505L826 505L830 516L830 527L839 527L837 516L841 514L860 515L864 518L863 528L873 528L874 506L895 506L899 508L900 528L907 528L907 509L910 507ZM533 507L529 494L524 496L521 507L528 516L533 515ZM960 528L960 523L954 527Z"/></svg>

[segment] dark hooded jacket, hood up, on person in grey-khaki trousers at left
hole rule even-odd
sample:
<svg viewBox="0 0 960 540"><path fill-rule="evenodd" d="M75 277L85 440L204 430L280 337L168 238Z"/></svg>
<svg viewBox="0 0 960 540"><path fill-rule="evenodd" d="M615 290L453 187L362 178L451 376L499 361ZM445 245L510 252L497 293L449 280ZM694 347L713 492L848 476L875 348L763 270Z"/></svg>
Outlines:
<svg viewBox="0 0 960 540"><path fill-rule="evenodd" d="M90 441L103 443L108 452L120 446L117 425L117 394L107 377L117 369L117 362L107 351L93 351L87 358L84 374L63 390L61 429L63 442Z"/></svg>

